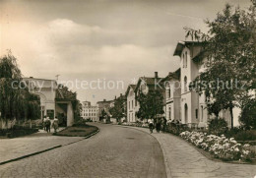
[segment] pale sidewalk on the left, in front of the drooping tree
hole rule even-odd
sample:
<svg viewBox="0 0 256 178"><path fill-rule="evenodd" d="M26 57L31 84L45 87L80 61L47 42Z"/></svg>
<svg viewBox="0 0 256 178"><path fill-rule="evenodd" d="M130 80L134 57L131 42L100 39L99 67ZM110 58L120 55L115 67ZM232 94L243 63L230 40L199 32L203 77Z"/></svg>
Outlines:
<svg viewBox="0 0 256 178"><path fill-rule="evenodd" d="M60 130L62 129L64 128L60 128ZM53 129L51 132L53 132ZM52 133L46 133L43 130L22 138L1 139L0 163L45 149L68 145L83 139L85 138L52 136Z"/></svg>

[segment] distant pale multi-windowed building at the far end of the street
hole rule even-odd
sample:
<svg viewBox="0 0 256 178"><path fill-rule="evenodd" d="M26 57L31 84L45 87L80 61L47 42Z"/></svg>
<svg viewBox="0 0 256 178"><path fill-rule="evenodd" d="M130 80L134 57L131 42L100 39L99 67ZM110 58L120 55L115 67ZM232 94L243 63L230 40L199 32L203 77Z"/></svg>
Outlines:
<svg viewBox="0 0 256 178"><path fill-rule="evenodd" d="M94 122L98 121L98 108L97 106L91 105L90 101L84 101L82 103L82 113L83 119L91 119Z"/></svg>

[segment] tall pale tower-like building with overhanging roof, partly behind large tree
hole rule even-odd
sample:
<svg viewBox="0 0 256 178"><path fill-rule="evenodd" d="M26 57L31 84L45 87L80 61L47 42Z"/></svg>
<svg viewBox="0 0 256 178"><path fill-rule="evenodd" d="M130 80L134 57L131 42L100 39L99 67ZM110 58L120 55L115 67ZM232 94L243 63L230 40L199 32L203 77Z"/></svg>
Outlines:
<svg viewBox="0 0 256 178"><path fill-rule="evenodd" d="M190 82L194 81L200 73L207 68L210 60L204 55L202 43L197 41L179 41L174 51L174 56L180 57L180 110L181 122L189 126L198 125L207 127L211 116L206 108L205 94L199 94L189 89ZM239 109L233 109L234 126L238 125ZM221 111L220 116L226 120L228 127L231 125L229 112Z"/></svg>

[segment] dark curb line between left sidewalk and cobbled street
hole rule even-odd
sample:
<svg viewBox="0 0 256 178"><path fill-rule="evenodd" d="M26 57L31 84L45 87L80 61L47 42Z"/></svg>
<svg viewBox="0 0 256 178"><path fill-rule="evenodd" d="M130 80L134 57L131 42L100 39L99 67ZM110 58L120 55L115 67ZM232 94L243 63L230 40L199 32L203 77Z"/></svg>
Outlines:
<svg viewBox="0 0 256 178"><path fill-rule="evenodd" d="M46 149L43 149L43 150L40 150L40 151L35 151L35 152L32 152L32 153L29 153L29 154L26 154L26 155L17 157L17 158L5 160L5 161L3 161L3 162L0 162L0 165L7 164L7 163L9 163L9 162L14 162L14 161L17 161L17 160L21 160L21 159L24 159L24 158L27 158L27 157L31 157L32 155L40 154L40 153L42 153L42 152L46 152L46 151L52 150L52 149L54 149L54 148L61 148L61 147L69 146L69 145L72 145L72 144L75 144L75 143L84 141L84 140L86 140L86 139L89 139L89 138L95 136L97 133L99 133L99 131L100 131L100 130L97 128L96 132L90 134L89 136L86 136L84 139L81 139L81 140L79 140L79 141L75 141L75 142L72 142L72 143L69 143L69 144L66 144L66 145L58 145L58 146L55 146L55 147L52 147L52 148L46 148Z"/></svg>

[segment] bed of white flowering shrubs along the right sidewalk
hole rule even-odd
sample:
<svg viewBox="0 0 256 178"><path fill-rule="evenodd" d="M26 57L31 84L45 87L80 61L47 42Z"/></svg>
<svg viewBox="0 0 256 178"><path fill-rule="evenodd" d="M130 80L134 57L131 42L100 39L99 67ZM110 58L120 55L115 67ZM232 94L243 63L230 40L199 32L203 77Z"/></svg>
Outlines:
<svg viewBox="0 0 256 178"><path fill-rule="evenodd" d="M185 131L180 136L198 148L210 151L215 157L223 160L250 160L254 152L249 145L238 144L233 138L227 139L222 135L207 135L202 132Z"/></svg>

